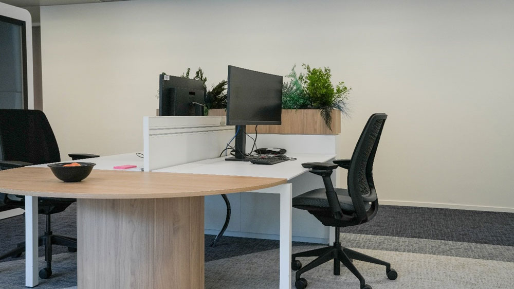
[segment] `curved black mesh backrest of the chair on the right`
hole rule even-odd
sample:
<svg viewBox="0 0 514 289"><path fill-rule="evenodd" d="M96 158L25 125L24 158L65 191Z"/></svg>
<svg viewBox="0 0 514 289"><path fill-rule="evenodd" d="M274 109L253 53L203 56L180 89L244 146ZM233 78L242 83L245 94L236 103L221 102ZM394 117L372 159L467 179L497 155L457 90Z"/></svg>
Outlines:
<svg viewBox="0 0 514 289"><path fill-rule="evenodd" d="M373 202L377 198L373 183L373 161L386 119L386 114L373 114L368 119L352 155L348 191L350 194L359 193L364 202Z"/></svg>

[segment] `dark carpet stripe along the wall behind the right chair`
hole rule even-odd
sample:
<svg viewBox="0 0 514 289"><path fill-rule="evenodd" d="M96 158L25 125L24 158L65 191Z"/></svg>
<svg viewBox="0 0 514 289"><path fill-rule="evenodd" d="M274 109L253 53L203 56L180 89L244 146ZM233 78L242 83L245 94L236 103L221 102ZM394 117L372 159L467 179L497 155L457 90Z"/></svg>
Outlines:
<svg viewBox="0 0 514 289"><path fill-rule="evenodd" d="M371 222L341 232L514 246L514 213L380 206Z"/></svg>

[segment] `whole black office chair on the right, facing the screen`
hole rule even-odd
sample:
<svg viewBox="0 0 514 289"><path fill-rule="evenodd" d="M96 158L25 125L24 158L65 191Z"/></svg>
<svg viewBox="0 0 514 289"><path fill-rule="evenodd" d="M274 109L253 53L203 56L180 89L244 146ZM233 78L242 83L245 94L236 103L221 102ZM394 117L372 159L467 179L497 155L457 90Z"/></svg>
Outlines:
<svg viewBox="0 0 514 289"><path fill-rule="evenodd" d="M359 279L361 289L371 289L364 277L353 265L353 259L386 266L386 275L395 280L398 274L391 269L391 264L357 251L341 246L339 228L355 226L373 219L378 210L378 198L373 183L373 160L377 151L378 141L386 114L374 114L366 123L351 159L334 160L334 164L324 162L308 162L302 164L311 173L323 177L325 188L311 190L293 197L292 205L297 209L307 210L325 226L336 228L336 241L333 246L309 250L292 255L291 267L296 272L295 286L298 289L307 287L307 280L301 275L328 261L334 260L334 275L340 274L341 262ZM332 171L337 167L348 170L348 189L334 189ZM296 260L298 257L318 257L306 266Z"/></svg>

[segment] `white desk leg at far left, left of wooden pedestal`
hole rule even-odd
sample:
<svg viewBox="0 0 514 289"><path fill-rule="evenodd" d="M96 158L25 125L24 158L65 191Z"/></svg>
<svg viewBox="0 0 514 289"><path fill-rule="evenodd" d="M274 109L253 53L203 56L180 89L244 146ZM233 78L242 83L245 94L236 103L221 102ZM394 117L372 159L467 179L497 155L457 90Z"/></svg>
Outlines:
<svg viewBox="0 0 514 289"><path fill-rule="evenodd" d="M25 196L25 287L38 284L38 197Z"/></svg>

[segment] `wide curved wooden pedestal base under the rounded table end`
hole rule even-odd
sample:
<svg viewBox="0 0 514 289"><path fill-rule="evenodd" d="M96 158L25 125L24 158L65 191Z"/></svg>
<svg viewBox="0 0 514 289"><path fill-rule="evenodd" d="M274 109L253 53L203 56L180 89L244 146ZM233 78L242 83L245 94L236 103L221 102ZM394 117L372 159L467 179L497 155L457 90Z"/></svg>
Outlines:
<svg viewBox="0 0 514 289"><path fill-rule="evenodd" d="M204 289L204 197L79 199L78 289Z"/></svg>

